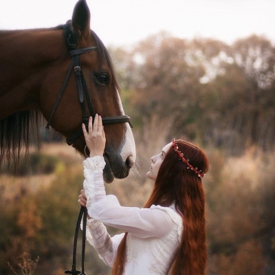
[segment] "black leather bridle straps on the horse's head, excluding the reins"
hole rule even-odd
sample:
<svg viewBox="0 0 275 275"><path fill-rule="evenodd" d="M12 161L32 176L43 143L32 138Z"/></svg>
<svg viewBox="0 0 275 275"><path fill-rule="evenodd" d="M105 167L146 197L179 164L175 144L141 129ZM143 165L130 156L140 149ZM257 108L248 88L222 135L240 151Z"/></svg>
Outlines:
<svg viewBox="0 0 275 275"><path fill-rule="evenodd" d="M77 49L77 39L76 39L76 35L74 34L74 31L72 30L71 24L67 23L64 25L64 33L65 33L65 41L66 41L66 45L67 45L67 49L69 50L71 56L72 56L72 62L71 65L69 66L69 71L67 72L67 76L65 78L65 81L63 83L63 86L61 87L61 91L59 92L58 98L54 104L54 108L52 109L52 113L50 114L50 118L47 121L47 126L45 127L46 130L50 129L50 124L52 122L52 118L54 116L54 113L56 112L56 109L58 107L59 102L61 101L61 97L63 95L63 92L65 91L65 87L67 86L67 82L69 80L69 76L72 72L72 69L74 67L74 72L76 75L76 83L77 83L77 87L78 87L78 98L80 101L80 107L81 107L81 111L82 111L82 120L83 123L86 126L86 129L88 129L88 124L89 124L89 117L87 115L86 112L86 108L85 108L85 102L84 102L84 95L87 101L87 106L89 109L89 115L91 115L91 117L95 117L95 113L94 113L94 109L93 106L91 104L91 98L89 95L89 91L86 85L86 81L84 78L84 74L83 74L83 70L81 68L80 65L80 61L79 61L79 55L80 54L85 54L87 52L92 52L92 51L96 51L98 50L98 47L96 46L91 46L91 47L84 47L82 49ZM83 93L84 91L84 93ZM102 118L102 124L113 124L113 123L126 123L128 122L130 124L131 127L132 124L130 122L130 118L128 115L118 115L118 116L111 116L111 117L103 117ZM76 131L76 133L74 133L71 137L68 137L66 139L66 142L68 145L72 145L73 142L83 133L82 128L80 127L80 129L78 131Z"/></svg>

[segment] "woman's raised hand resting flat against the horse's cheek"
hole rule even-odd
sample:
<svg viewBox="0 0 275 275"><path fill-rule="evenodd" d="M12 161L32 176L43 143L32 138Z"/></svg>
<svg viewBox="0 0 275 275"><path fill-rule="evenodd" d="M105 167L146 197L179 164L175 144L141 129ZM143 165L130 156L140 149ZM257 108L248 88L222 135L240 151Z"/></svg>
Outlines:
<svg viewBox="0 0 275 275"><path fill-rule="evenodd" d="M106 137L104 133L104 126L102 125L102 118L100 115L96 114L93 125L93 118L89 117L88 133L85 128L85 124L82 124L83 134L85 137L85 142L90 151L90 157L95 157L96 155L102 156L104 153L104 148L106 144Z"/></svg>

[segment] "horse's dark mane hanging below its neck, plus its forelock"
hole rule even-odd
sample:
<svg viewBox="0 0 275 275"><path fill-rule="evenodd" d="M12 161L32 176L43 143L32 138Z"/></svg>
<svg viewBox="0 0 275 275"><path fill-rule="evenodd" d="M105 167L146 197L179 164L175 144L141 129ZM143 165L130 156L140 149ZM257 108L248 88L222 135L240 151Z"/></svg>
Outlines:
<svg viewBox="0 0 275 275"><path fill-rule="evenodd" d="M64 26L65 25L58 25L54 29L61 30L64 29ZM98 47L100 66L107 63L112 76L111 85L114 85L120 92L118 81L115 78L111 56L107 48L93 30L91 30L91 35L94 37L96 46ZM40 111L28 110L12 113L12 115L0 120L0 167L4 163L10 166L11 162L13 162L14 168L16 169L19 164L22 149L25 148L25 157L29 153L30 134L32 134L32 137L40 146L39 129L42 118L43 116Z"/></svg>

